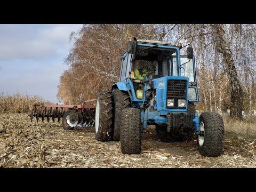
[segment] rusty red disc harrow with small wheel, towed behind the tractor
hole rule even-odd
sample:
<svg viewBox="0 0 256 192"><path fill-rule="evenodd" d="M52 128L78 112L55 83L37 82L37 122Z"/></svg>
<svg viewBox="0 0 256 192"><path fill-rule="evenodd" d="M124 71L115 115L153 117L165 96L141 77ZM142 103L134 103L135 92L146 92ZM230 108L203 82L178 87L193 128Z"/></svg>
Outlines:
<svg viewBox="0 0 256 192"><path fill-rule="evenodd" d="M62 123L65 121L71 128L94 126L95 106L85 105L85 103L93 101L96 101L96 99L84 101L82 105L58 105L58 103L56 105L44 103L35 104L28 116L31 122L33 118L36 117L36 122L38 122L39 119L42 119L42 122L44 122L45 119L48 123L50 119L52 119L52 122L55 122L57 118L60 123L62 118ZM63 119L65 113L68 113L68 115L65 115L66 119Z"/></svg>

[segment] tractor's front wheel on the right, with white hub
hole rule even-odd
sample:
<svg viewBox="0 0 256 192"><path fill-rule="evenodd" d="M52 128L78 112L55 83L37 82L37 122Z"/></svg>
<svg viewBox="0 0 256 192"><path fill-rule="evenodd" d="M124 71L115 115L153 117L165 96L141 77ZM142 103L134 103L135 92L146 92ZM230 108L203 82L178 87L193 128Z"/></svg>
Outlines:
<svg viewBox="0 0 256 192"><path fill-rule="evenodd" d="M199 117L199 129L203 135L197 135L197 147L201 155L217 157L224 149L224 123L220 114L205 112Z"/></svg>

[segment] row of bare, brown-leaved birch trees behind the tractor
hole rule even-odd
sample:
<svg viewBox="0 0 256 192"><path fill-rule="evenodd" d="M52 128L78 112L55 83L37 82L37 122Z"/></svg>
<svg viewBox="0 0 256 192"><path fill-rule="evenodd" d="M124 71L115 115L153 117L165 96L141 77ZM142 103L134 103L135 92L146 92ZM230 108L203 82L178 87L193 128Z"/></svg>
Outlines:
<svg viewBox="0 0 256 192"><path fill-rule="evenodd" d="M119 81L127 39L167 41L194 48L199 110L242 119L255 106L255 25L90 24L71 33L75 43L65 58L57 96L65 104L95 98L98 90ZM182 49L185 51L185 49ZM185 54L185 52L183 52Z"/></svg>

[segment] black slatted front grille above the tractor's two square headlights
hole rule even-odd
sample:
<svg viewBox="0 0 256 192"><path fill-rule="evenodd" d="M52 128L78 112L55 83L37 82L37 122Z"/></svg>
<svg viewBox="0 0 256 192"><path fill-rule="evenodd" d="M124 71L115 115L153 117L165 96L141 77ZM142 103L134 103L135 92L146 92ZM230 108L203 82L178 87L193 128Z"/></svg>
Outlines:
<svg viewBox="0 0 256 192"><path fill-rule="evenodd" d="M167 80L167 99L186 99L187 80L168 79Z"/></svg>

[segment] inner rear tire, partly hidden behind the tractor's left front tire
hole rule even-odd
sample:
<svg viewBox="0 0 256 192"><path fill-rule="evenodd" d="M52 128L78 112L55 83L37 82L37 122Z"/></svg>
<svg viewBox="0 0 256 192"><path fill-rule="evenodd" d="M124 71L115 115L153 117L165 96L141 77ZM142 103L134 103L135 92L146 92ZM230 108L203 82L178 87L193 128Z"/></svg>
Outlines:
<svg viewBox="0 0 256 192"><path fill-rule="evenodd" d="M130 105L130 97L127 92L115 89L112 92L112 97L114 99L114 130L113 130L113 140L119 141L120 140L120 126L121 126L121 116L122 110L129 107Z"/></svg>

